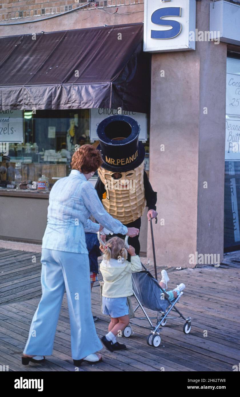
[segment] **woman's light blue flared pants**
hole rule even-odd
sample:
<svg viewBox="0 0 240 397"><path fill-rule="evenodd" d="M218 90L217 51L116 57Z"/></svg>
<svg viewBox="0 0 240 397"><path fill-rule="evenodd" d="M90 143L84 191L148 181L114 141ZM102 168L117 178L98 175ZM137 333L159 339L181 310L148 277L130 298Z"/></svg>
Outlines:
<svg viewBox="0 0 240 397"><path fill-rule="evenodd" d="M72 358L80 360L102 349L91 313L87 254L42 249L42 297L33 316L24 349L27 355L50 356L66 288ZM63 342L64 343L64 342Z"/></svg>

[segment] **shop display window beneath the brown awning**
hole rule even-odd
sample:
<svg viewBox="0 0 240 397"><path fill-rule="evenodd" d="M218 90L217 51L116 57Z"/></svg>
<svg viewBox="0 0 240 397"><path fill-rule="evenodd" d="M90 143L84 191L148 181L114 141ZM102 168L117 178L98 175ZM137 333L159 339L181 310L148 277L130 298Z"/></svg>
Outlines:
<svg viewBox="0 0 240 397"><path fill-rule="evenodd" d="M0 111L0 189L49 190L57 179L69 175L71 158L81 145L98 145L97 124L116 114L112 109ZM145 114L123 112L139 122L140 139L146 150L145 170L149 170L149 119ZM95 174L97 178L97 173ZM35 183L34 183L35 182ZM43 189L45 190L45 189Z"/></svg>

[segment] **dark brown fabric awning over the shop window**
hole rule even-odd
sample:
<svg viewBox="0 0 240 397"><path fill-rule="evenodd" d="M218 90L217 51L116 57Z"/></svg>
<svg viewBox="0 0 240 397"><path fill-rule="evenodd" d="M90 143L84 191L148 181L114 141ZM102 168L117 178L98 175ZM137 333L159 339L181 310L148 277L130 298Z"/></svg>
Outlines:
<svg viewBox="0 0 240 397"><path fill-rule="evenodd" d="M151 62L142 40L142 23L2 37L0 109L147 113Z"/></svg>

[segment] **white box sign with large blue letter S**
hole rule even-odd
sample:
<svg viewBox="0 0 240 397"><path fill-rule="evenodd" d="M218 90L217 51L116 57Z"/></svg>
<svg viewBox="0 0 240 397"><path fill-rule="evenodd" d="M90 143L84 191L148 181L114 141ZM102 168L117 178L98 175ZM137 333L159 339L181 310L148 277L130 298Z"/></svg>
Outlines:
<svg viewBox="0 0 240 397"><path fill-rule="evenodd" d="M195 0L145 0L143 51L195 50Z"/></svg>

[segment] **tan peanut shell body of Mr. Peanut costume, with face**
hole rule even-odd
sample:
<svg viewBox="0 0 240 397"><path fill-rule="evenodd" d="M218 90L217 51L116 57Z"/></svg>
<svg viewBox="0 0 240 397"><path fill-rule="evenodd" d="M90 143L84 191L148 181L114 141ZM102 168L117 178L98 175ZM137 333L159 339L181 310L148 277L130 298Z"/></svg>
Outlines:
<svg viewBox="0 0 240 397"><path fill-rule="evenodd" d="M102 203L105 210L123 224L133 222L145 210L143 186L144 163L131 171L108 171L99 167L98 173L105 185Z"/></svg>

